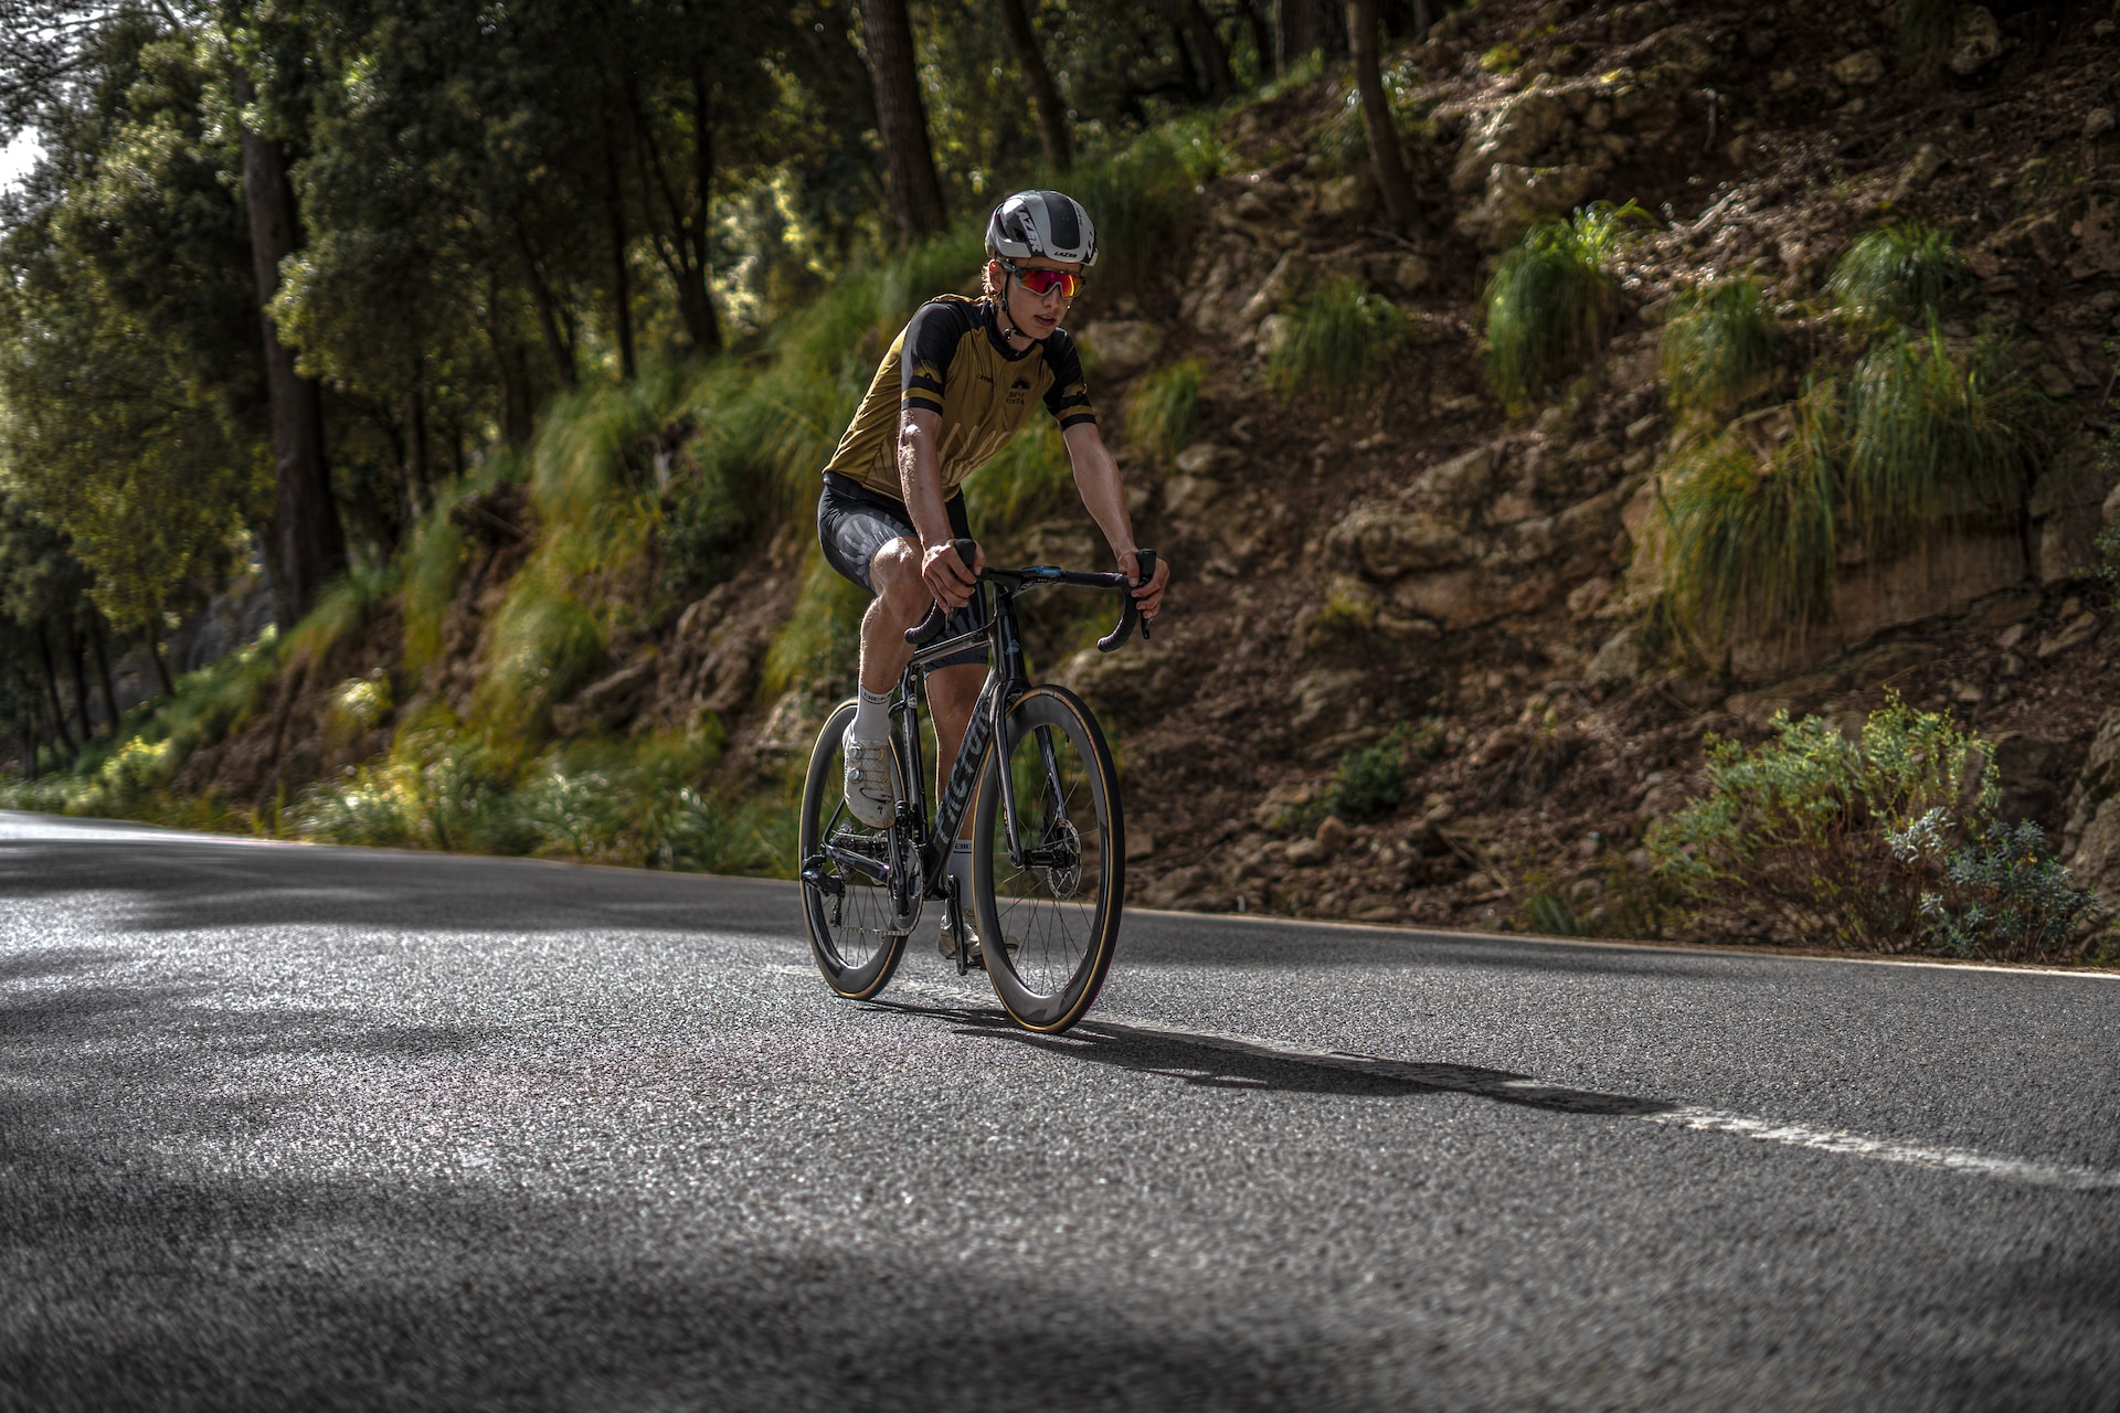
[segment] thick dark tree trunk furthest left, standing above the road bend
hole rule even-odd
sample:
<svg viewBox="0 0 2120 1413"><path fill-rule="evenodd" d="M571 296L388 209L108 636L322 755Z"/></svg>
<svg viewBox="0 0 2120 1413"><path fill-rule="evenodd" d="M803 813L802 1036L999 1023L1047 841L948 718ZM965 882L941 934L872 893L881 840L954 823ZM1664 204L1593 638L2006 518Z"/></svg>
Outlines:
<svg viewBox="0 0 2120 1413"><path fill-rule="evenodd" d="M235 70L235 102L250 104L257 91L250 74ZM346 532L331 498L331 468L324 464L324 405L316 381L295 371L295 350L280 343L271 322L280 261L297 250L295 189L286 180L286 155L244 125L244 208L250 214L250 265L257 275L259 328L265 337L265 381L271 390L273 500L265 553L273 559L280 589L280 627L290 629L329 578L346 570Z"/></svg>

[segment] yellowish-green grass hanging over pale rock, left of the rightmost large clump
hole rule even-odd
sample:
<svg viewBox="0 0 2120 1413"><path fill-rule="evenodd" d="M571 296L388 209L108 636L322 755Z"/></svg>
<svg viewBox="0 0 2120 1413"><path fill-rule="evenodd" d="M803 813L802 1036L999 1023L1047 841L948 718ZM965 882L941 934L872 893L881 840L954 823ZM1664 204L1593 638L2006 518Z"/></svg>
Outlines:
<svg viewBox="0 0 2120 1413"><path fill-rule="evenodd" d="M1671 604L1711 636L1745 625L1802 633L1834 604L1838 400L1813 386L1796 432L1764 460L1743 441L1715 443L1671 481Z"/></svg>

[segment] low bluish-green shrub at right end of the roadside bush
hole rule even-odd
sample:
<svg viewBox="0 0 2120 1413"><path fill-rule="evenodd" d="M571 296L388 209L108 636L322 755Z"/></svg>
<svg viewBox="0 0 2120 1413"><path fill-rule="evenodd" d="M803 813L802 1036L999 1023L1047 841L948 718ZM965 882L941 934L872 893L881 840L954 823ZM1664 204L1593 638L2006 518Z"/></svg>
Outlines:
<svg viewBox="0 0 2120 1413"><path fill-rule="evenodd" d="M2046 845L2035 820L1989 822L1959 841L1942 809L1891 830L1893 858L1929 888L1921 892L1921 938L1953 958L2035 960L2071 949L2097 911L2097 894Z"/></svg>

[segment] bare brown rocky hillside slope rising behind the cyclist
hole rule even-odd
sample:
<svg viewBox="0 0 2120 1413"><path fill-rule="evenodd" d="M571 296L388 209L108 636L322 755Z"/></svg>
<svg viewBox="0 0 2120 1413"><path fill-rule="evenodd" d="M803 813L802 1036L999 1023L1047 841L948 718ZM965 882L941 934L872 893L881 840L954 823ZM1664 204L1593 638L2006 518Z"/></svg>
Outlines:
<svg viewBox="0 0 2120 1413"><path fill-rule="evenodd" d="M1344 74L1225 123L1230 161L1198 193L1170 286L1077 311L1113 426L1155 371L1206 369L1194 439L1168 460L1121 455L1141 538L1179 574L1162 631L1049 661L1115 727L1136 900L1495 928L1529 926L1539 894L1584 930L1641 932L1641 837L1685 799L1704 733L1760 739L1777 710L1859 722L1887 691L1999 739L2010 807L2120 898L2120 803L2105 803L2120 652L2088 574L2116 477L2099 455L2120 328L2116 17L1936 15L1923 49L1891 4L1452 13L1389 57L1425 197L1425 229L1406 235L1372 214ZM1492 258L1590 201L1641 208L1618 324L1579 377L1512 413L1482 375ZM1707 650L1658 631L1664 477L1698 436L1664 405L1675 301L1717 275L1762 282L1785 335L1777 396L1728 434L1772 447L1832 339L1832 261L1906 216L1946 227L1974 278L1942 335L2014 330L2065 407L2025 515L1953 523L1891 559L1842 555L1830 619L1802 633ZM1336 280L1393 301L1414 347L1376 386L1285 398L1268 369L1289 311ZM534 530L505 491L458 519L477 570L445 652L399 695L469 710L481 633ZM1096 559L1079 513L992 549ZM729 741L719 786L780 788L846 688L763 686L806 555L797 517L706 597L615 633L553 727L685 731L712 714ZM263 799L382 750L390 720L365 737L320 725L335 682L388 669L384 648L346 652L278 682L187 784ZM1350 752L1386 737L1399 803L1321 818Z"/></svg>

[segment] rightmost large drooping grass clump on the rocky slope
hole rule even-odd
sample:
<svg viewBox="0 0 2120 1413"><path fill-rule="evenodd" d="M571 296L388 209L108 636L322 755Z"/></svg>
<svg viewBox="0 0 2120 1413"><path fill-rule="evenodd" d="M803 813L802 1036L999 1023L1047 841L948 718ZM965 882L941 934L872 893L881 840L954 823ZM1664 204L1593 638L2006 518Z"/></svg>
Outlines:
<svg viewBox="0 0 2120 1413"><path fill-rule="evenodd" d="M1933 322L1925 337L1893 330L1849 383L1851 523L1891 553L1942 517L2014 519L2056 432L2052 400L2001 339L1982 335L1955 358Z"/></svg>

